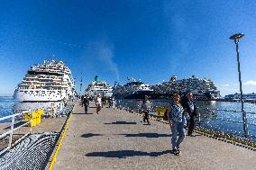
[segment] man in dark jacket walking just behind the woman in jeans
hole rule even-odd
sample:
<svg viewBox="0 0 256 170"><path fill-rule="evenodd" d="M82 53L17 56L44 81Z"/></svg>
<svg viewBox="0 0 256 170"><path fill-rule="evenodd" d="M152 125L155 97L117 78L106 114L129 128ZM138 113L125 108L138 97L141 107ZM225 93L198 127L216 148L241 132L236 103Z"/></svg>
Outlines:
<svg viewBox="0 0 256 170"><path fill-rule="evenodd" d="M187 91L186 97L182 100L182 106L189 115L187 136L196 137L193 135L193 131L195 129L195 117L197 117L197 105L193 101L192 92Z"/></svg>

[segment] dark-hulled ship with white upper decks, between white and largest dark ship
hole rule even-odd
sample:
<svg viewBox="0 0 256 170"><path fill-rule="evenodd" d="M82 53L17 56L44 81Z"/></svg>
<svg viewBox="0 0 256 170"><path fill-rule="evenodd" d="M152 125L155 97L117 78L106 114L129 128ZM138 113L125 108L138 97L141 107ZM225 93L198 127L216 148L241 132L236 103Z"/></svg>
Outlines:
<svg viewBox="0 0 256 170"><path fill-rule="evenodd" d="M151 86L144 84L141 80L132 79L125 85L114 85L114 95L117 98L142 99L145 95L151 96L151 94L153 94Z"/></svg>

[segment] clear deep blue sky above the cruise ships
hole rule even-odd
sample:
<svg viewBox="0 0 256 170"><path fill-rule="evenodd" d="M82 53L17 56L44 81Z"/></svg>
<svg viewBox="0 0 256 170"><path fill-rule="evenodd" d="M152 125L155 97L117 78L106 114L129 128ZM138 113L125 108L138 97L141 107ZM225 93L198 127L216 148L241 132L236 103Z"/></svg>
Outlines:
<svg viewBox="0 0 256 170"><path fill-rule="evenodd" d="M192 75L210 78L221 94L256 92L254 0L0 0L0 95L12 95L27 70L64 61L79 92L100 76L156 85Z"/></svg>

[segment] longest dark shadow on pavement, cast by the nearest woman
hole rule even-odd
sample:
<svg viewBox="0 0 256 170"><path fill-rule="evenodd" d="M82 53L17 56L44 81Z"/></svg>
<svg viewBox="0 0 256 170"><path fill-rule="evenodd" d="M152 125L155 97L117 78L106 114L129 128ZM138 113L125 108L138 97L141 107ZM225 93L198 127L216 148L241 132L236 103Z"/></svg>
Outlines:
<svg viewBox="0 0 256 170"><path fill-rule="evenodd" d="M108 152L92 152L92 153L88 153L86 156L87 157L126 158L126 157L136 157L136 156L159 157L165 154L171 154L171 151L166 150L161 152L142 152L142 151L135 151L135 150L118 150L118 151L108 151Z"/></svg>

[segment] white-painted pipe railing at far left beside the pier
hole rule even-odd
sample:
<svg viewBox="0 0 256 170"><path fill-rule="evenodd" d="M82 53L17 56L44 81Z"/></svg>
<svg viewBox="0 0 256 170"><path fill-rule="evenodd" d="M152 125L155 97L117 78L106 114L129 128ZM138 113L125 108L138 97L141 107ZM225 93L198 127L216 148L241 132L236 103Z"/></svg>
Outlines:
<svg viewBox="0 0 256 170"><path fill-rule="evenodd" d="M12 148L12 145L15 145L15 144L19 143L22 139L24 139L26 136L28 136L28 135L32 132L32 116L31 116L31 120L30 120L30 121L26 121L26 122L22 123L21 125L14 126L15 120L16 120L16 121L21 120L20 118L21 118L24 114L26 114L26 113L28 113L28 112L32 112L32 110L30 110L30 111L18 112L18 113L15 113L15 114L12 114L12 115L5 116L5 117L0 118L0 125L3 124L3 123L6 123L6 124L7 124L7 122L5 122L5 120L10 120L10 119L11 119L10 130L7 130L7 131L3 132L2 134L0 133L0 142L2 142L3 139L5 139L6 137L8 137L8 141L7 141L8 145L7 145L7 147L4 146L3 148L1 148L1 150L0 150L0 156L1 156L2 154L4 154L5 151L7 151L7 150L9 150L10 148ZM14 139L13 139L13 137L14 137L14 131L21 129L22 127L24 127L24 126L26 126L26 125L28 125L28 124L30 124L30 131L27 132L26 134L24 134L21 138L15 140L15 141L14 141L14 144L13 144L13 140L14 140ZM6 126L3 126L3 127L5 128ZM4 130L5 130L5 129L4 129ZM4 131L4 130L3 130L3 131ZM2 131L2 130L1 130L1 131ZM4 142L4 143L5 143L5 142Z"/></svg>

